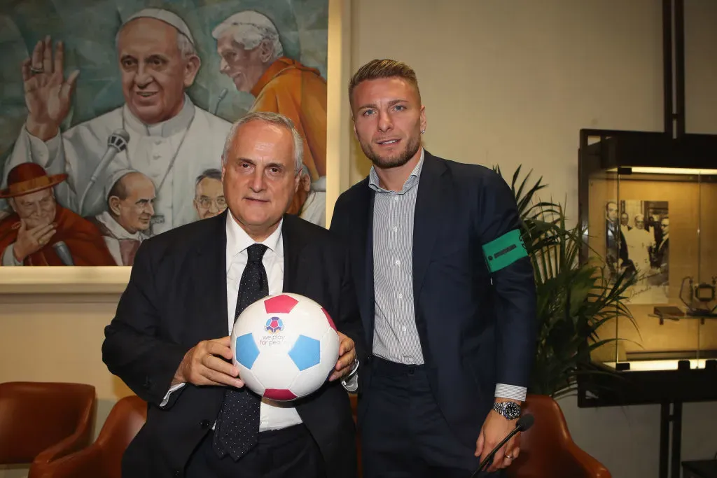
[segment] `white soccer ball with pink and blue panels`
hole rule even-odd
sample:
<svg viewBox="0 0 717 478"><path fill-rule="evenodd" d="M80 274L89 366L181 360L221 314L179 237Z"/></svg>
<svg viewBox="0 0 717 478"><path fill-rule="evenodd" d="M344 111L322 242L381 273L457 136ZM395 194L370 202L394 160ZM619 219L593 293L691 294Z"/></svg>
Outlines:
<svg viewBox="0 0 717 478"><path fill-rule="evenodd" d="M318 303L281 293L257 300L234 322L231 349L244 386L290 401L318 390L338 360L336 325Z"/></svg>

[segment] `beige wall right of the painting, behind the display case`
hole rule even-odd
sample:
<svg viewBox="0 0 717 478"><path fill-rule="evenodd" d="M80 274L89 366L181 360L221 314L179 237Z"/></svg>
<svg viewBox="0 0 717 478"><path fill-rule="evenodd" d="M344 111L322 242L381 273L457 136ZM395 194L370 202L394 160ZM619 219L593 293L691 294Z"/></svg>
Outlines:
<svg viewBox="0 0 717 478"><path fill-rule="evenodd" d="M373 58L417 72L424 144L438 156L549 183L577 212L580 128L663 128L657 0L354 0L352 70ZM717 2L685 2L687 130L717 133ZM351 182L369 162L351 148ZM670 203L672 207L672 203ZM713 328L711 329L713 333ZM659 406L581 409L561 401L576 442L615 478L657 477ZM683 459L717 451L717 403L684 407Z"/></svg>

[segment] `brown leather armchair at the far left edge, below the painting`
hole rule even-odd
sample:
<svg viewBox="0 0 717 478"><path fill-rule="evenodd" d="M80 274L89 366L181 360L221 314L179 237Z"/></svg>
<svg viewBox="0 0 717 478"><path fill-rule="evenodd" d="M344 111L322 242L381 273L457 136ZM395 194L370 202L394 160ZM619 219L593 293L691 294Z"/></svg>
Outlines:
<svg viewBox="0 0 717 478"><path fill-rule="evenodd" d="M0 464L30 464L28 478L92 439L95 387L82 383L0 383Z"/></svg>

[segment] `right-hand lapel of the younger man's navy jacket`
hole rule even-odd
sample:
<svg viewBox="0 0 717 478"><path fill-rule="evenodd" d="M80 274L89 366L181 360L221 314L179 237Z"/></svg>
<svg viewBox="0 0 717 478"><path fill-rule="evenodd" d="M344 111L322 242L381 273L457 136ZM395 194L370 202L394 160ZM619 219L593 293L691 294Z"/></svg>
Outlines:
<svg viewBox="0 0 717 478"><path fill-rule="evenodd" d="M445 164L426 151L418 183L413 225L413 297L416 311L433 244L440 229L441 199L445 197L441 180L445 171Z"/></svg>

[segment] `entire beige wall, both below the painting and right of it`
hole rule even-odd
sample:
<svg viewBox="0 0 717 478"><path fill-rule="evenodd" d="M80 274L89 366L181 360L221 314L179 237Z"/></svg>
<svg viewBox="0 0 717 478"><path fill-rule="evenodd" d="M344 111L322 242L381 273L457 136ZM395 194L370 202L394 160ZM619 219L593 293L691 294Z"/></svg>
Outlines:
<svg viewBox="0 0 717 478"><path fill-rule="evenodd" d="M336 174L330 192L368 171L351 140L341 95L348 72L374 57L396 57L417 70L427 107L424 139L432 153L500 164L508 174L519 164L533 168L550 185L546 196L566 199L573 217L579 128L662 128L657 0L331 1L330 37L350 41L330 50L335 129L328 167ZM688 130L715 133L717 2L686 3ZM331 77L332 71L341 74ZM11 287L2 280L0 286ZM129 393L100 360L103 328L117 297L0 295L0 381L93 383L101 424L111 403ZM614 477L657 476L658 406L584 410L573 398L561 405L574 439ZM717 451L713 419L706 419L716 413L713 403L685 405L684 459ZM16 475L0 468L0 478L9 476Z"/></svg>

